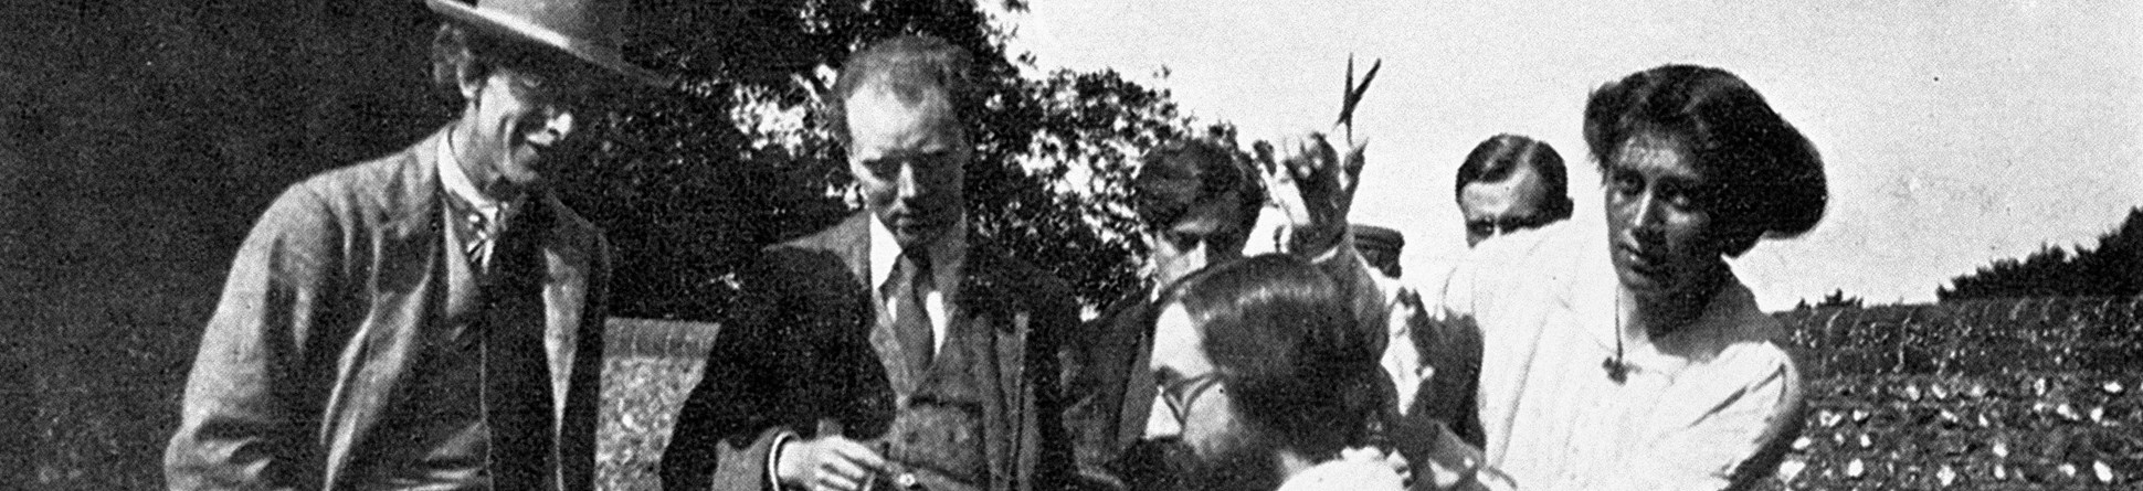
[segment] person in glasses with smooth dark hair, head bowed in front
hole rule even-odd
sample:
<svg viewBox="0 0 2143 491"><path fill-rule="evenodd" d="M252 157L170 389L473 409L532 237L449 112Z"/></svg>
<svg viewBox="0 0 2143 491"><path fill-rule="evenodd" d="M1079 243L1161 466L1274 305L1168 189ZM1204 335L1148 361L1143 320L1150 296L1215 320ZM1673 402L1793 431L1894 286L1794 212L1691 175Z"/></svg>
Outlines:
<svg viewBox="0 0 2143 491"><path fill-rule="evenodd" d="M1376 352L1331 277L1290 255L1219 264L1159 302L1149 369L1189 455L1181 489L1402 489L1365 446Z"/></svg>

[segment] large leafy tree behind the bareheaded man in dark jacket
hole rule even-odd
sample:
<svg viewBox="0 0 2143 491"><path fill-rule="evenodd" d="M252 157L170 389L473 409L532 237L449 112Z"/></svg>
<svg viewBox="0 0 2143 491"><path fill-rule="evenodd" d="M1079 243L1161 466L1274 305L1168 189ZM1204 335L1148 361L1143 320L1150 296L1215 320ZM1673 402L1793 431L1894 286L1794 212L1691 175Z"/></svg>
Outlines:
<svg viewBox="0 0 2143 491"><path fill-rule="evenodd" d="M735 266L769 242L855 210L853 176L823 120L840 62L879 39L930 34L975 56L969 221L984 240L1056 272L1084 304L1138 283L1123 208L1129 157L1192 133L1166 90L1114 71L1026 77L1031 56L973 2L645 2L628 58L681 75L673 92L619 92L594 165L566 197L617 253L613 311L714 319ZM1024 2L1005 2L1022 11ZM1232 129L1217 124L1215 135Z"/></svg>

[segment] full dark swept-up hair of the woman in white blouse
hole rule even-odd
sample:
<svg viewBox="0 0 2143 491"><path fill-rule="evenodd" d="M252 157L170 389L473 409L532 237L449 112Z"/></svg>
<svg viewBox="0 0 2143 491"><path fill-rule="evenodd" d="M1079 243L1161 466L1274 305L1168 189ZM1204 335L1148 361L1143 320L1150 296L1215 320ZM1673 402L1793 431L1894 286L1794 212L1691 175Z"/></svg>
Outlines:
<svg viewBox="0 0 2143 491"><path fill-rule="evenodd" d="M1824 159L1749 81L1712 66L1663 64L1592 90L1586 146L1601 169L1633 137L1661 137L1712 182L1699 204L1725 225L1729 257L1759 238L1800 236L1824 219ZM1605 174L1605 172L1603 172Z"/></svg>

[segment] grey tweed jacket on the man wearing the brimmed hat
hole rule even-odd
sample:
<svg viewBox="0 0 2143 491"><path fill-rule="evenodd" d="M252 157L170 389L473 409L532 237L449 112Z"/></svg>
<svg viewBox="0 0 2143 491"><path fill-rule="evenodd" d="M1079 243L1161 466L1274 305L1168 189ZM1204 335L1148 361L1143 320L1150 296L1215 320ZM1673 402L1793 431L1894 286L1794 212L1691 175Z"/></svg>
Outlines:
<svg viewBox="0 0 2143 491"><path fill-rule="evenodd" d="M416 380L448 287L437 172L424 142L306 178L231 262L165 448L171 489L354 489L392 401ZM542 240L557 489L591 489L609 244L557 197Z"/></svg>

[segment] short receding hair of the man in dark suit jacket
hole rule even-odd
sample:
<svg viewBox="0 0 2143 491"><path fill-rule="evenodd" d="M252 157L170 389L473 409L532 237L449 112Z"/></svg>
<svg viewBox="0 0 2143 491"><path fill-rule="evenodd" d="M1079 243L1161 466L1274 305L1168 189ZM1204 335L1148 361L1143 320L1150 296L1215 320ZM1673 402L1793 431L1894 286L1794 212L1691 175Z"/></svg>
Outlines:
<svg viewBox="0 0 2143 491"><path fill-rule="evenodd" d="M834 137L849 144L849 99L872 84L883 84L902 103L941 94L951 105L956 124L966 131L964 124L975 122L979 107L969 81L971 66L973 56L966 49L936 36L896 36L855 51L834 81L834 101L827 107Z"/></svg>

